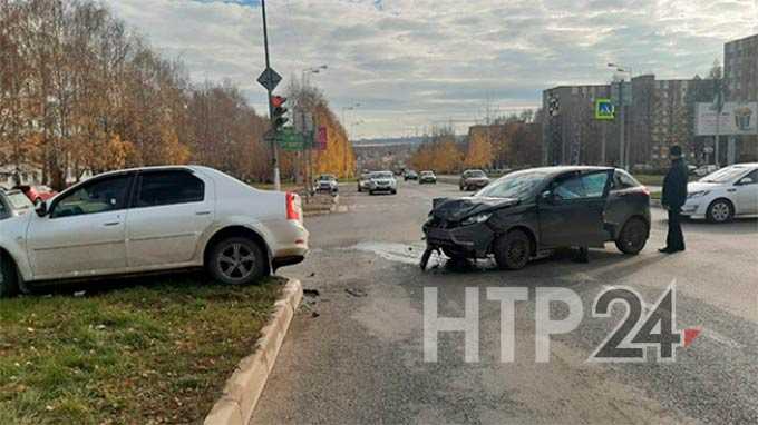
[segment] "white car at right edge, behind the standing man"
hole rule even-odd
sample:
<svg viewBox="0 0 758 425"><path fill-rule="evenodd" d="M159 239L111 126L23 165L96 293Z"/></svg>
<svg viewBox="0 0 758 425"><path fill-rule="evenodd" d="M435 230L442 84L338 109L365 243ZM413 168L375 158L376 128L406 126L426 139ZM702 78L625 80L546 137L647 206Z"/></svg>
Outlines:
<svg viewBox="0 0 758 425"><path fill-rule="evenodd" d="M758 162L721 168L687 186L682 215L725 223L758 216Z"/></svg>

